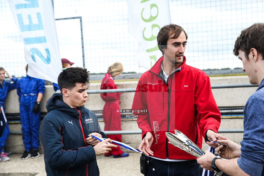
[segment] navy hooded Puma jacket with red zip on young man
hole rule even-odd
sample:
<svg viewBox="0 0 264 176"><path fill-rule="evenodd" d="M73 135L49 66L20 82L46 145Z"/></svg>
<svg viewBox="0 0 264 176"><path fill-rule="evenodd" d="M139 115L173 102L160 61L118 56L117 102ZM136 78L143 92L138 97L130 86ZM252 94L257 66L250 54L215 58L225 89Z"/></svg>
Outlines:
<svg viewBox="0 0 264 176"><path fill-rule="evenodd" d="M106 138L94 112L84 106L71 108L61 93L48 99L46 109L40 137L47 176L99 175L94 148L85 141L92 132Z"/></svg>

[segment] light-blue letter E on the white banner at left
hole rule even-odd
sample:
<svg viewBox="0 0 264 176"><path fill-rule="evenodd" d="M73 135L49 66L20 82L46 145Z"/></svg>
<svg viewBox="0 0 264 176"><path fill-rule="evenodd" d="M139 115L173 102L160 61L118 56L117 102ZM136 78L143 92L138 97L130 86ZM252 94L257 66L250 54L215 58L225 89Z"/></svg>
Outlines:
<svg viewBox="0 0 264 176"><path fill-rule="evenodd" d="M39 12L36 13L36 14L37 14L37 18L38 18L38 24L33 24L31 15L28 15L29 24L26 24L26 25L24 25L22 14L17 14L19 28L20 28L21 32L43 30L43 24L42 24L41 15L40 15Z"/></svg>

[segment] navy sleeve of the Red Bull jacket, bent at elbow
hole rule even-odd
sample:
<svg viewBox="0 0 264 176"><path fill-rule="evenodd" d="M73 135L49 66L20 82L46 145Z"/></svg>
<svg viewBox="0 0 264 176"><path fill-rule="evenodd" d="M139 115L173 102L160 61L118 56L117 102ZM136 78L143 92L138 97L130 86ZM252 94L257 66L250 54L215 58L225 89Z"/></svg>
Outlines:
<svg viewBox="0 0 264 176"><path fill-rule="evenodd" d="M90 145L77 150L63 150L60 128L59 122L49 116L42 120L40 126L44 153L51 169L70 169L94 161L96 155L94 148Z"/></svg>

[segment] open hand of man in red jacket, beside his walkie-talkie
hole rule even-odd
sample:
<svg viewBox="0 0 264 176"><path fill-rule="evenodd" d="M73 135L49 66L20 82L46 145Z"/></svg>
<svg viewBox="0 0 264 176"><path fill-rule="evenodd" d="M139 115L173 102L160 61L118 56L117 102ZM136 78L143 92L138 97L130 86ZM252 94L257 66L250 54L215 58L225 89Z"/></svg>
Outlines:
<svg viewBox="0 0 264 176"><path fill-rule="evenodd" d="M152 136L152 133L147 132L146 136L141 141L141 143L138 147L138 150L140 152L143 152L147 156L150 156L150 155L153 156L153 152L150 150L150 146L152 145L153 140L154 140L154 138Z"/></svg>

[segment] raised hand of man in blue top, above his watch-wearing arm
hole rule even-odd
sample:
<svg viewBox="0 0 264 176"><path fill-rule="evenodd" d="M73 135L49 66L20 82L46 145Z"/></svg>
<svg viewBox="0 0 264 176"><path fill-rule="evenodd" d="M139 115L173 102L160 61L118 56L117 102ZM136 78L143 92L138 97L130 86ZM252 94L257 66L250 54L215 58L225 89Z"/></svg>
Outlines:
<svg viewBox="0 0 264 176"><path fill-rule="evenodd" d="M232 142L231 140L218 140L217 142L227 144L227 145L219 145L217 149L218 155L224 159L232 159L239 158L241 154L241 146Z"/></svg>

